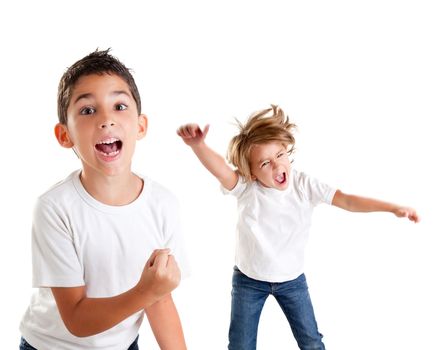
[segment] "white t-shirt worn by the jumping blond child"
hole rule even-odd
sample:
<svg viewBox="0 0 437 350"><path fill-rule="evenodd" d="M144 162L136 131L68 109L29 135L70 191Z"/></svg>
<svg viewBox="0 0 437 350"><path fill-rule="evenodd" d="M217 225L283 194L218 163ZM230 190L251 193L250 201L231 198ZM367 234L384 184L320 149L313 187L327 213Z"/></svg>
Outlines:
<svg viewBox="0 0 437 350"><path fill-rule="evenodd" d="M241 177L231 191L222 190L238 200L235 264L240 271L272 283L302 274L313 209L331 204L336 190L294 169L285 191Z"/></svg>

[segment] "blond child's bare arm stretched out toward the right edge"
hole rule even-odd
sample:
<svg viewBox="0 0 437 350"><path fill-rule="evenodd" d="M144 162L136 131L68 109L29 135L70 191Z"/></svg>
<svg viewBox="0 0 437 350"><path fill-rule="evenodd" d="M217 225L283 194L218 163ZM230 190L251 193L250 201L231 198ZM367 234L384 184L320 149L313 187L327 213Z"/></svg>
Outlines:
<svg viewBox="0 0 437 350"><path fill-rule="evenodd" d="M385 211L393 213L397 217L407 217L411 221L419 222L419 216L413 208L383 202L378 199L345 194L340 190L335 192L332 205L354 212Z"/></svg>

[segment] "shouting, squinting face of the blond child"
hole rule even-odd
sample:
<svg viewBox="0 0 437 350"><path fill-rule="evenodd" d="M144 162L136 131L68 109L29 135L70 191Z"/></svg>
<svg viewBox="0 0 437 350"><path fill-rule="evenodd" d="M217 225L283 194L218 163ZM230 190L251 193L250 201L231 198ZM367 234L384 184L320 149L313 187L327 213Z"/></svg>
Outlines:
<svg viewBox="0 0 437 350"><path fill-rule="evenodd" d="M288 188L290 160L282 143L272 141L253 145L249 162L253 180L281 191Z"/></svg>

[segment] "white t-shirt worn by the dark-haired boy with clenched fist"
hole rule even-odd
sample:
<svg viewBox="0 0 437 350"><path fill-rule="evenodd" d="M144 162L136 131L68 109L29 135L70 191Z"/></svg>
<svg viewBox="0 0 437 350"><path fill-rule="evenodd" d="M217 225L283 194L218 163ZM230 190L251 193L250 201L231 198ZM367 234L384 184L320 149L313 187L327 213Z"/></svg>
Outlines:
<svg viewBox="0 0 437 350"><path fill-rule="evenodd" d="M147 178L124 206L95 200L80 171L39 197L32 227L33 287L20 324L38 350L127 349L138 335L140 311L100 334L79 338L65 327L49 287L86 285L88 297L111 297L134 287L154 249L168 247L187 273L176 198Z"/></svg>

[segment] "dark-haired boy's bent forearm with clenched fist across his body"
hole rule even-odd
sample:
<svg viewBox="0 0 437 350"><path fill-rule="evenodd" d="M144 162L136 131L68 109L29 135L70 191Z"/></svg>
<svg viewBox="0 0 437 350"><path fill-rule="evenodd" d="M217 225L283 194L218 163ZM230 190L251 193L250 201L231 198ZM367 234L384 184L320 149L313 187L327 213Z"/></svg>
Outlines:
<svg viewBox="0 0 437 350"><path fill-rule="evenodd" d="M114 327L137 311L148 308L177 287L180 271L168 249L155 250L132 289L108 298L88 298L86 287L52 287L67 329L87 337Z"/></svg>

